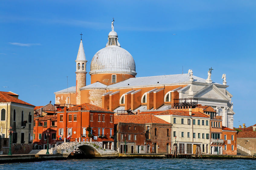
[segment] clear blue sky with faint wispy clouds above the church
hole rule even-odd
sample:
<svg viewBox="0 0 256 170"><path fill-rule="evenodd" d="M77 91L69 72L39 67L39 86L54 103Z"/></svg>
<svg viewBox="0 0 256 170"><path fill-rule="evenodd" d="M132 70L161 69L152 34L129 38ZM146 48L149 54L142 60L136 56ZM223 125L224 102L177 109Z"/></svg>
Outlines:
<svg viewBox="0 0 256 170"><path fill-rule="evenodd" d="M214 82L227 75L234 126L254 125L255 9L256 1L1 1L0 90L37 106L54 102L66 76L69 86L76 83L80 32L89 72L115 17L138 77L179 74L183 66L206 79L212 67Z"/></svg>

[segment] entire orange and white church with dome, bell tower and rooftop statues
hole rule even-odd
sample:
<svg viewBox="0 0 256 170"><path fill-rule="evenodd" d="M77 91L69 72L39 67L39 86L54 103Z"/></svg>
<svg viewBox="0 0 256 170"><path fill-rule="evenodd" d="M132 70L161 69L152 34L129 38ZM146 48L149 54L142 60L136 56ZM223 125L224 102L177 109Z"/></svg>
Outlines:
<svg viewBox="0 0 256 170"><path fill-rule="evenodd" d="M86 62L81 39L76 58L76 86L55 92L55 104L90 103L115 112L134 113L201 104L213 107L222 116L222 125L233 128L233 96L226 89L225 74L222 84L212 82L210 69L207 79L194 76L192 70L187 74L136 77L134 59L121 48L113 21L105 48L92 58L89 85L86 85Z"/></svg>

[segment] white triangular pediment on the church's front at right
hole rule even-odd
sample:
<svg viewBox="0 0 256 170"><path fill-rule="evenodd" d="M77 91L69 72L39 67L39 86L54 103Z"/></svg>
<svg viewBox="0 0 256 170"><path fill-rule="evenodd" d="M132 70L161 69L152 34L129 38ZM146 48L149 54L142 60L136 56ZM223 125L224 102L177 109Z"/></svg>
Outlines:
<svg viewBox="0 0 256 170"><path fill-rule="evenodd" d="M193 97L218 99L218 100L231 100L230 97L225 95L221 90L219 90L214 84L208 85L198 91Z"/></svg>

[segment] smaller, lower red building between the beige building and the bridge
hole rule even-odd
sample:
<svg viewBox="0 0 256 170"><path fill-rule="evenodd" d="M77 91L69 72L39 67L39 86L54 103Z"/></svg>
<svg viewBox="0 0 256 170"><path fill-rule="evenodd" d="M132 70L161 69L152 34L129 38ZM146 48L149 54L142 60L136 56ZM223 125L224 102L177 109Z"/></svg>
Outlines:
<svg viewBox="0 0 256 170"><path fill-rule="evenodd" d="M47 149L47 130L50 132L48 137L50 148L52 144L56 144L57 115L34 118L34 149Z"/></svg>

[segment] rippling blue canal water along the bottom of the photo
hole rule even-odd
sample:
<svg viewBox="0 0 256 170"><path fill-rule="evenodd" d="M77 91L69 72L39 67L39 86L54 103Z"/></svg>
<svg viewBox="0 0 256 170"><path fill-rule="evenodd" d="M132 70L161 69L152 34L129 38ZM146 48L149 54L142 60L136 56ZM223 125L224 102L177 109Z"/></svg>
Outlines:
<svg viewBox="0 0 256 170"><path fill-rule="evenodd" d="M245 159L67 159L0 164L0 169L144 170L144 169L256 169L256 160Z"/></svg>

